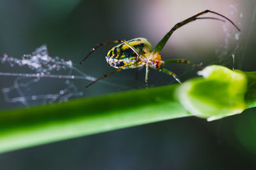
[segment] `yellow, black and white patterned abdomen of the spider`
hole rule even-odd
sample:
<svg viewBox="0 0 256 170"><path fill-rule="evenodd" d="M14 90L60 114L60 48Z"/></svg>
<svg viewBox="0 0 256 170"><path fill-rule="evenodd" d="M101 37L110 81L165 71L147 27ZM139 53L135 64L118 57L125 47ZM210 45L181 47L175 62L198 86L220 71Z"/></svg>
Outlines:
<svg viewBox="0 0 256 170"><path fill-rule="evenodd" d="M127 42L134 47L139 54L152 52L152 45L145 38L134 38ZM141 61L140 57L125 43L111 48L106 56L106 60L110 66L116 69L131 69L145 65L145 62Z"/></svg>

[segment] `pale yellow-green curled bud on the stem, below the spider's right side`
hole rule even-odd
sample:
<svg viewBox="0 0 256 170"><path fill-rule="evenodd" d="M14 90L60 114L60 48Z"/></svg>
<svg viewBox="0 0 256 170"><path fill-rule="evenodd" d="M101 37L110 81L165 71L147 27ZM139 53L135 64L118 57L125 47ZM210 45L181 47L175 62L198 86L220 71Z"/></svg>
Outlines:
<svg viewBox="0 0 256 170"><path fill-rule="evenodd" d="M212 65L198 74L202 77L186 81L175 92L192 115L212 121L245 110L247 79L242 71Z"/></svg>

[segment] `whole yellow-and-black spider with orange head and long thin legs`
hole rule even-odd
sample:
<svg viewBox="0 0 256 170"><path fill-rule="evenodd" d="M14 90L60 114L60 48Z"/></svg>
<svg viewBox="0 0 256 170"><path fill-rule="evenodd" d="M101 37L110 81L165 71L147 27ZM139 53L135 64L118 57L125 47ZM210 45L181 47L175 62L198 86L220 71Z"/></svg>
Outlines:
<svg viewBox="0 0 256 170"><path fill-rule="evenodd" d="M167 32L167 34L163 37L163 39L161 39L161 41L157 43L156 48L154 48L154 50L152 50L152 45L145 38L134 38L129 41L125 41L125 39L118 39L115 41L100 43L94 48L92 48L92 50L88 53L88 55L86 55L86 57L84 57L84 59L80 62L80 64L82 64L84 60L86 60L89 57L89 55L91 55L100 46L104 46L112 43L120 43L119 45L116 45L113 48L111 48L111 50L109 50L106 56L106 60L108 64L112 67L115 67L116 70L108 74L104 74L97 80L92 81L92 83L90 83L86 87L89 87L90 85L101 80L102 78L106 78L106 76L109 76L123 69L132 69L132 68L138 68L143 66L146 66L146 74L145 74L146 87L148 86L148 67L152 67L157 71L163 71L164 73L169 74L170 76L173 76L173 78L175 78L176 81L181 83L179 77L175 73L164 68L165 64L184 63L194 67L198 67L199 69L203 69L203 67L199 64L195 64L194 62L191 62L185 59L162 60L161 55L159 53L163 49L164 45L166 44L166 42L168 41L172 33L179 27L182 27L183 25L186 25L189 22L193 22L198 19L212 19L212 20L219 20L221 22L225 22L225 20L221 20L220 18L199 17L200 15L204 15L205 13L213 13L213 14L219 15L220 17L225 18L232 25L234 25L234 27L236 27L238 31L240 31L237 25L234 24L234 22L232 22L230 19L228 19L224 15L221 15L220 13L216 13L214 11L205 10L174 25L174 27L172 27L172 29L169 32Z"/></svg>

